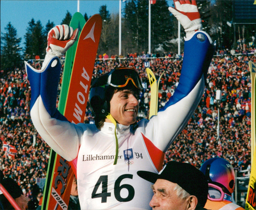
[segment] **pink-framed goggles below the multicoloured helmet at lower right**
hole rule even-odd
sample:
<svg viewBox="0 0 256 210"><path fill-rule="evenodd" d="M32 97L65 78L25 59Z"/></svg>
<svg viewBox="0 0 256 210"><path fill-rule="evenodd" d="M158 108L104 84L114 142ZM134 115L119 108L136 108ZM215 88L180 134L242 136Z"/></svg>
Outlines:
<svg viewBox="0 0 256 210"><path fill-rule="evenodd" d="M208 183L208 199L212 201L227 200L232 202L232 197L223 192L220 186Z"/></svg>

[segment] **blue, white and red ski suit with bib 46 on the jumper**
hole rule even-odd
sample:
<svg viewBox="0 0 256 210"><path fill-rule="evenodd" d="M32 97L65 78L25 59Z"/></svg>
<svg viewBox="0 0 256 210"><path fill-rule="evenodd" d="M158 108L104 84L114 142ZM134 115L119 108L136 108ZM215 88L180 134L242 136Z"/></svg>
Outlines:
<svg viewBox="0 0 256 210"><path fill-rule="evenodd" d="M197 34L203 34L199 40ZM81 209L151 209L151 184L138 170L158 173L164 153L188 123L204 93L204 73L214 47L208 34L197 31L185 39L180 81L173 96L138 127L117 124L118 160L115 159L115 126L104 123L73 124L56 109L60 60L53 57L44 71L26 63L31 86L31 118L49 146L68 161L77 157L77 188Z"/></svg>

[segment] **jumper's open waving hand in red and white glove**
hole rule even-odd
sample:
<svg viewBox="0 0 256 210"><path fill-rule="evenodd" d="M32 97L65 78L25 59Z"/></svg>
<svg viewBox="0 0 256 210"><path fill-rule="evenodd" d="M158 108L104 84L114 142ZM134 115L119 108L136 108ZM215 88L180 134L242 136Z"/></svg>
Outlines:
<svg viewBox="0 0 256 210"><path fill-rule="evenodd" d="M202 20L198 11L196 1L174 0L174 6L169 7L169 11L180 21L186 32L186 37L190 37L195 31L202 30Z"/></svg>

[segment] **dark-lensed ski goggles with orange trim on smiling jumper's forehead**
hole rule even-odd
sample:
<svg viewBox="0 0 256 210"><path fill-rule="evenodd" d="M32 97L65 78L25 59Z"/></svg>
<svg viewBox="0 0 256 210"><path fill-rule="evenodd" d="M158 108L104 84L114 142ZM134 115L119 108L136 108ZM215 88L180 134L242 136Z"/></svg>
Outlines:
<svg viewBox="0 0 256 210"><path fill-rule="evenodd" d="M143 89L139 74L135 69L121 67L109 72L108 85L110 86L125 87L128 85L129 81L131 81L132 84L139 90Z"/></svg>

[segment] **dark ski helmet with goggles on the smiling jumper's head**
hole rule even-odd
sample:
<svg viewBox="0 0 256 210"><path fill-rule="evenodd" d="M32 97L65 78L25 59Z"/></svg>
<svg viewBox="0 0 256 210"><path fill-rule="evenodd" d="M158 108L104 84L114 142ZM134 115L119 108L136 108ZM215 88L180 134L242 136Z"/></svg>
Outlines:
<svg viewBox="0 0 256 210"><path fill-rule="evenodd" d="M140 76L131 67L119 67L98 77L90 90L90 105L95 116L107 116L110 111L111 90L135 88L142 90Z"/></svg>

